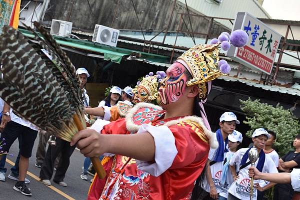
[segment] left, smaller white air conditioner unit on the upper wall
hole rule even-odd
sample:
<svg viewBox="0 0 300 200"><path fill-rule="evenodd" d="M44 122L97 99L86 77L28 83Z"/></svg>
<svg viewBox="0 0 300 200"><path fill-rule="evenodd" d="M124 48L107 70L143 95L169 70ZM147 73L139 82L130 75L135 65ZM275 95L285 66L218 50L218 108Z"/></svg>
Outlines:
<svg viewBox="0 0 300 200"><path fill-rule="evenodd" d="M73 23L69 21L52 19L50 34L61 37L70 37L72 24Z"/></svg>

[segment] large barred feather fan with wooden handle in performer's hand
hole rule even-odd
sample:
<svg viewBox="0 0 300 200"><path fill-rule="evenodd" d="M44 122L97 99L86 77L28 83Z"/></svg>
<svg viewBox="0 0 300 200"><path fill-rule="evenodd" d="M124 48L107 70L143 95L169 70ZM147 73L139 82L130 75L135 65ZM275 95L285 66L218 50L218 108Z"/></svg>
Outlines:
<svg viewBox="0 0 300 200"><path fill-rule="evenodd" d="M79 79L52 36L38 22L34 26L42 36L27 27L33 41L10 26L3 27L0 96L18 115L70 142L85 128ZM104 178L99 159L91 161L98 176Z"/></svg>

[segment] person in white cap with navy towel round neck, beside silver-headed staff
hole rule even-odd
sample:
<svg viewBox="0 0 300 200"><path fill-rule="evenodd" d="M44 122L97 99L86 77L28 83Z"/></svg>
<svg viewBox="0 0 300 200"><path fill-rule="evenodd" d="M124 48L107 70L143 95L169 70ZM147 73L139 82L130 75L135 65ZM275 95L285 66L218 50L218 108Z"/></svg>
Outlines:
<svg viewBox="0 0 300 200"><path fill-rule="evenodd" d="M264 154L263 148L270 135L263 128L256 129L252 134L253 147L257 149L259 158L254 163L254 166L263 173L278 173L277 168L267 154ZM246 200L250 198L250 178L248 176L248 168L251 163L248 159L248 152L251 148L243 148L234 153L229 162L229 168L234 182L228 189L227 200ZM237 166L237 169L235 169ZM257 198L257 190L259 181L254 181L254 189L252 200ZM274 183L269 183L262 188L262 191L274 186Z"/></svg>

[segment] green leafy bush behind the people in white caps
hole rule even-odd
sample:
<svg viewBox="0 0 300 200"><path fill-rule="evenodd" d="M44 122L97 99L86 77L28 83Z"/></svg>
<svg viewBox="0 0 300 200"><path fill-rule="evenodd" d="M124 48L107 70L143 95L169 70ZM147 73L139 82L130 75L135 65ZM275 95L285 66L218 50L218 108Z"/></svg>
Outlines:
<svg viewBox="0 0 300 200"><path fill-rule="evenodd" d="M246 121L251 130L247 131L246 136L251 137L257 128L265 128L276 133L274 147L279 156L283 156L288 151L293 150L292 141L300 133L299 119L297 119L288 109L284 109L279 103L276 107L259 100L252 101L240 100L240 109L246 113Z"/></svg>

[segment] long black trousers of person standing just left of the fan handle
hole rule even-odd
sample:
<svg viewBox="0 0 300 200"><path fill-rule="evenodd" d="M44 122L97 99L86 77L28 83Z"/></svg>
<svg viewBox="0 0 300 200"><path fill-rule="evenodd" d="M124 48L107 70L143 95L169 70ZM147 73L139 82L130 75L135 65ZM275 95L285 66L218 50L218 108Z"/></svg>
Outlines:
<svg viewBox="0 0 300 200"><path fill-rule="evenodd" d="M61 157L54 175L53 181L59 183L63 181L66 170L70 164L70 156L72 155L75 146L70 146L69 142L56 138L56 145L49 146L46 156L41 166L39 178L41 180L50 180L53 175L54 161L61 152Z"/></svg>

